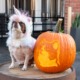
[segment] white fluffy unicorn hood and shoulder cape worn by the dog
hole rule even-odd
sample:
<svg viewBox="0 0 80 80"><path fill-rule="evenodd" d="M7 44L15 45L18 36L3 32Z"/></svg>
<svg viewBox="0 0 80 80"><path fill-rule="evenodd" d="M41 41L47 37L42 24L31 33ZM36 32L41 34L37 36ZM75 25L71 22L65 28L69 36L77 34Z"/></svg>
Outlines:
<svg viewBox="0 0 80 80"><path fill-rule="evenodd" d="M33 30L31 17L26 16L26 14L24 13L21 13L15 7L14 7L14 11L15 11L15 14L13 14L9 18L9 23L8 23L9 37L6 42L7 46L14 46L14 47L28 46L31 49L33 49L36 40L33 37L31 37L32 30ZM13 21L16 21L17 19L23 22L26 27L26 32L24 33L24 37L21 37L20 39L12 38L12 23Z"/></svg>

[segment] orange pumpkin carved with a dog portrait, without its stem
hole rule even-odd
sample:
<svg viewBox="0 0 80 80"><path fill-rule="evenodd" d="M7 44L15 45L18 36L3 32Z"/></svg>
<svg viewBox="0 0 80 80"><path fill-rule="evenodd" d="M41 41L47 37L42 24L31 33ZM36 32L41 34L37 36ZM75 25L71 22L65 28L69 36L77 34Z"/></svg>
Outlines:
<svg viewBox="0 0 80 80"><path fill-rule="evenodd" d="M76 56L74 39L65 33L44 32L37 38L34 61L41 71L62 72L72 66Z"/></svg>

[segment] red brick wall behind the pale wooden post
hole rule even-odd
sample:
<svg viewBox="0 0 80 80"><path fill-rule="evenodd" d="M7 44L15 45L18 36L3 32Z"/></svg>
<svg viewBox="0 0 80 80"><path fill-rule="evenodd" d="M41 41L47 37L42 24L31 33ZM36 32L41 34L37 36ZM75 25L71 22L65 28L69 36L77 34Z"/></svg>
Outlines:
<svg viewBox="0 0 80 80"><path fill-rule="evenodd" d="M80 13L80 0L65 0L65 32L67 32L68 6L72 7L72 21L77 13Z"/></svg>

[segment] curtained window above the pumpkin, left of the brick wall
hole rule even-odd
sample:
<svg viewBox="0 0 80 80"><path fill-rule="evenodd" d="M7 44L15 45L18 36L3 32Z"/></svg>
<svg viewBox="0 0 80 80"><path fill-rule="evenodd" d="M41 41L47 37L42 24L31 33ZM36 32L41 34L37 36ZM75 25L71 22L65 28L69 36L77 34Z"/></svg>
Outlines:
<svg viewBox="0 0 80 80"><path fill-rule="evenodd" d="M42 14L64 17L64 0L42 0Z"/></svg>

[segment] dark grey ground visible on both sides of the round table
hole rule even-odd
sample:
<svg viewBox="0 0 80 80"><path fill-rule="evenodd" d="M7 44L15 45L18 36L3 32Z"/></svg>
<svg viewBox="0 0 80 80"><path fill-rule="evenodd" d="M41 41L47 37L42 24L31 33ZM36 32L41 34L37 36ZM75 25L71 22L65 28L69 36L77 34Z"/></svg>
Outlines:
<svg viewBox="0 0 80 80"><path fill-rule="evenodd" d="M0 64L10 61L9 51L5 45L5 40L0 39ZM77 80L80 80L80 53L76 54L76 60L73 64L76 70Z"/></svg>

